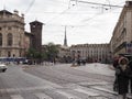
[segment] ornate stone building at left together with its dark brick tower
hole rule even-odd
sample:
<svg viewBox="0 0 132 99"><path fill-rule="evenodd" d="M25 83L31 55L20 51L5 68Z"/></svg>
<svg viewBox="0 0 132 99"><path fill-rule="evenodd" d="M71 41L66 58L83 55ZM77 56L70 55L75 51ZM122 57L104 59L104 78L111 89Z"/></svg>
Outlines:
<svg viewBox="0 0 132 99"><path fill-rule="evenodd" d="M41 52L43 23L31 22L31 33L25 32L24 25L24 14L0 11L0 57L25 57L31 47Z"/></svg>

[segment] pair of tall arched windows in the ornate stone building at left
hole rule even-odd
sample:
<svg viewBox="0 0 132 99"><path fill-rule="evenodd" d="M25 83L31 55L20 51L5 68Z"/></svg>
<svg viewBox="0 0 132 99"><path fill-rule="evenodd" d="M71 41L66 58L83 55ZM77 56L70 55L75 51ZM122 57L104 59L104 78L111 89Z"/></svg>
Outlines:
<svg viewBox="0 0 132 99"><path fill-rule="evenodd" d="M0 46L2 46L3 44L3 35L2 33L0 33ZM12 46L12 43L13 43L13 35L11 33L8 33L7 35L7 45L8 46Z"/></svg>

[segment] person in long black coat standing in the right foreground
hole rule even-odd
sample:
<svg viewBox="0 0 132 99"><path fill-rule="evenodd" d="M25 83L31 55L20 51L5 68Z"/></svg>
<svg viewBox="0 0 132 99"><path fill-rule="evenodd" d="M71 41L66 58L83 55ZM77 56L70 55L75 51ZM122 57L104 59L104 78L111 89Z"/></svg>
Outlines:
<svg viewBox="0 0 132 99"><path fill-rule="evenodd" d="M125 57L120 57L119 65L117 67L116 74L118 77L118 92L119 99L125 99L129 91L129 59Z"/></svg>

